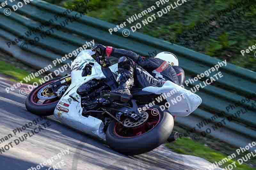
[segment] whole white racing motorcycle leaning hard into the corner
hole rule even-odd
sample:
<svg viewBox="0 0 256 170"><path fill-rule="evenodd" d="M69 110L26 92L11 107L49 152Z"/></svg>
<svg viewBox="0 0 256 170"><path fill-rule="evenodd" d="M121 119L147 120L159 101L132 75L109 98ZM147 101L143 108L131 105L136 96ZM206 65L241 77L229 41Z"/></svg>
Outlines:
<svg viewBox="0 0 256 170"><path fill-rule="evenodd" d="M149 152L170 137L175 140L177 134L171 135L173 116L188 116L202 102L199 96L171 81L162 87L133 86L130 101L112 100L104 92L117 87L117 63L109 64L93 48L81 51L71 70L71 75L52 79L30 92L27 110L39 116L54 115L125 155Z"/></svg>

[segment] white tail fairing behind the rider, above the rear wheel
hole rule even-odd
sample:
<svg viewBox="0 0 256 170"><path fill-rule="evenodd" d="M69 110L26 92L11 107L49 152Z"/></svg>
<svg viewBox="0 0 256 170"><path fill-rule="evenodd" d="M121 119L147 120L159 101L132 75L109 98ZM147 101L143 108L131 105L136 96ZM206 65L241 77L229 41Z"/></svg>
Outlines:
<svg viewBox="0 0 256 170"><path fill-rule="evenodd" d="M160 108L168 108L172 115L185 117L192 113L202 103L202 99L179 85L166 81L162 87L149 86L143 91L152 92L155 94L163 94L162 99L167 100L164 106ZM157 100L155 101L157 105Z"/></svg>

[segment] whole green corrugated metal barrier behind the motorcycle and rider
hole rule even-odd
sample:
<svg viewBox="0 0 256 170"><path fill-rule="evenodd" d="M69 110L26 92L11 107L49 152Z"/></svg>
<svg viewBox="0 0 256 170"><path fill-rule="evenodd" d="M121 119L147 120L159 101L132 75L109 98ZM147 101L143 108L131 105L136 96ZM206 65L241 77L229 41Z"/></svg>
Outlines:
<svg viewBox="0 0 256 170"><path fill-rule="evenodd" d="M13 3L8 2L7 6L11 8L13 4L17 4L19 1L20 0L16 0ZM4 2L4 0L0 0L0 2ZM222 62L216 58L167 41L162 41L137 32L132 33L131 30L131 34L128 37L122 36L124 29L120 29L118 32L111 35L108 29L114 28L115 25L88 16L81 16L77 18L76 21L65 25L60 30L54 29L50 36L41 37L41 34L47 33L52 27L56 27L60 23L65 22L67 18L77 15L76 12L71 12L67 14L66 17L54 18L56 14L61 14L64 11L66 11L66 9L40 0L31 1L17 11L12 12L10 16L5 16L3 13L4 9L2 8L0 9L0 36L6 41L14 41L15 38L24 36L25 40L16 44L16 46L20 48L22 48L22 43L25 41L32 41L36 37L39 37L40 41L36 43L36 46L29 45L27 49L23 49L23 51L28 52L32 56L34 55L34 57L26 57L18 53L12 53L14 57L37 68L43 68L45 64L51 63L52 60L60 58L76 48L81 47L85 44L85 41L91 40L95 40L95 44L99 42L108 46L129 49L142 56L147 56L148 52L155 50L157 52L173 52L179 58L180 66L185 70L185 73L188 73L190 76L186 77L187 80L192 79L192 77L197 74L205 72L212 66L218 64L218 62ZM54 20L51 25L41 26L42 23L51 19ZM29 33L29 30L35 30L40 26L42 29L39 29L36 33ZM29 36L27 36L26 33L29 34ZM0 48L10 53L10 48L8 48L7 45L6 47L1 46ZM62 64L70 62L71 59L68 59ZM202 78L200 81L194 83L189 83L189 86L186 88L190 89L195 85L202 84L204 80L219 71L221 71L223 75L222 78L219 78L212 85L200 88L199 91L196 92L203 100L200 107L190 116L178 118L177 122L186 127L194 128L197 127L199 122L205 119L211 119L212 126L215 123L226 120L223 133L220 131L219 133L211 133L209 135L236 146L246 144L247 140L256 138L256 107L249 108L246 114L234 117L231 122L227 120L227 117L234 115L241 109L252 106L255 102L250 100L241 103L233 109L228 109L228 107L248 99L249 96L256 97L255 72L228 63L227 66L223 66L218 71L210 73L208 77ZM224 115L216 118L216 115L223 111L225 112ZM202 129L196 128L196 130L200 132ZM240 137L239 140L233 140L234 137L227 139L226 135L229 132L236 137Z"/></svg>

